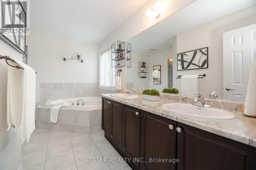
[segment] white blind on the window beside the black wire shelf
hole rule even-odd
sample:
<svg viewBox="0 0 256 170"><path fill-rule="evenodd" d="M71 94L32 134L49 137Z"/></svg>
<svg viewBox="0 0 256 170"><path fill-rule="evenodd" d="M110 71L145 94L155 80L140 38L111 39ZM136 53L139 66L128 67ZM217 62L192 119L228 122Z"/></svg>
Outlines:
<svg viewBox="0 0 256 170"><path fill-rule="evenodd" d="M111 66L111 48L100 54L100 86L115 87L115 68Z"/></svg>

